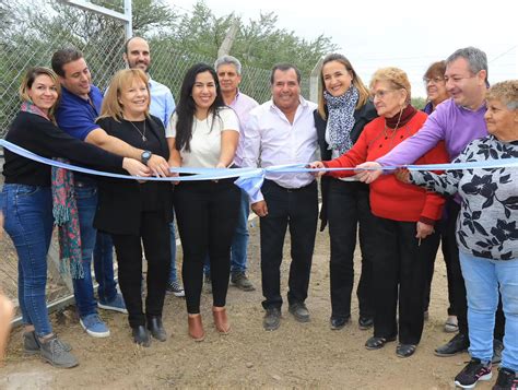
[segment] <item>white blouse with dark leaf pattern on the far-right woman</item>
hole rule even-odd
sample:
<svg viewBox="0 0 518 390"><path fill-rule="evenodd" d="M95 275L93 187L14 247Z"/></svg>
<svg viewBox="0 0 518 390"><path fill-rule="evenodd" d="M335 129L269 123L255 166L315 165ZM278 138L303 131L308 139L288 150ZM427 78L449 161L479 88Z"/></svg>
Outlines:
<svg viewBox="0 0 518 390"><path fill-rule="evenodd" d="M454 163L503 158L518 158L518 141L487 135L469 143ZM459 193L460 250L493 260L518 259L518 167L448 170L443 175L411 172L410 180L439 193Z"/></svg>

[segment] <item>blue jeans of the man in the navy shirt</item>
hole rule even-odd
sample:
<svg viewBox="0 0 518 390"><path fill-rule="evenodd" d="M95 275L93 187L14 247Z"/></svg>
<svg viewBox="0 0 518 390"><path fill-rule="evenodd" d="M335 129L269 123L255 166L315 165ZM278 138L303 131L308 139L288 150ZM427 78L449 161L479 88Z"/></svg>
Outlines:
<svg viewBox="0 0 518 390"><path fill-rule="evenodd" d="M92 258L97 236L97 229L93 227L95 211L97 209L97 187L76 182L75 201L78 203L79 225L81 229L81 251L84 279L72 279L72 284L79 316L83 318L97 312L97 302L94 297L94 285L92 282ZM108 244L110 249L106 249ZM109 252L109 257L97 257L95 279L99 283L101 292L104 292L104 294L113 294L115 297L117 292L114 282L111 240L109 240L109 243L105 240L99 245L101 249L98 253L104 252L106 255ZM106 287L106 281L108 281L108 287Z"/></svg>

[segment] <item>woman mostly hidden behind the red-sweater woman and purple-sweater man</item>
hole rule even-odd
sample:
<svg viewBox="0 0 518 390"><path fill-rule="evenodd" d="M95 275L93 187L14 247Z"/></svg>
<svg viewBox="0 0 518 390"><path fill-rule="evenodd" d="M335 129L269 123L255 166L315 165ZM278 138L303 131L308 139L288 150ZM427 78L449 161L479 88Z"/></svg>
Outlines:
<svg viewBox="0 0 518 390"><path fill-rule="evenodd" d="M424 106L423 111L431 115L438 104L443 103L449 97L448 91L446 90L446 80L445 80L445 72L446 72L446 61L437 61L432 63L426 72L423 75L424 86L426 87L426 106ZM449 202L455 202L452 199ZM448 277L448 318L446 319L444 330L445 332L451 333L457 332L459 330L457 323L457 315L454 308L454 291L452 284L455 283L455 279L451 272L451 251L458 251L457 244L455 239L450 239L454 237L454 234L447 234L450 229L455 229L455 217L448 218L448 200L446 201L445 209L446 212L443 215L443 220L439 222L437 226L437 231L440 233L440 239L443 241L443 256L446 263L446 274ZM437 249L438 249L437 243ZM434 265L435 265L435 258L437 255L437 250L431 252L431 257L427 261L428 268L426 270L426 289L424 293L424 311L425 317L428 314L428 306L429 306L429 293L432 287L432 280L434 277ZM456 255L455 255L456 256Z"/></svg>

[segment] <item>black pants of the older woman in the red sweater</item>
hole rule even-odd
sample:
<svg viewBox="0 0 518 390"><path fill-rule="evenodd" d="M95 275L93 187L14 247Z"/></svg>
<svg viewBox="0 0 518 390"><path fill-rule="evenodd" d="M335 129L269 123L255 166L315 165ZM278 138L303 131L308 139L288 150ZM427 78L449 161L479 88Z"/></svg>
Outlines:
<svg viewBox="0 0 518 390"><path fill-rule="evenodd" d="M438 234L422 239L420 245L415 238L415 222L375 218L374 335L391 338L398 334L396 309L399 300L399 341L419 344L424 322L426 263L423 260L429 247L436 245Z"/></svg>

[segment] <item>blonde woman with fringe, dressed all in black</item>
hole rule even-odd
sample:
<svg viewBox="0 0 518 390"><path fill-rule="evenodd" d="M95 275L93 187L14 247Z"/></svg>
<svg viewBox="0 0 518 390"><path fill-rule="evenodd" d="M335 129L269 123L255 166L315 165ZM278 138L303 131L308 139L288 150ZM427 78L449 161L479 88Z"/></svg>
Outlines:
<svg viewBox="0 0 518 390"><path fill-rule="evenodd" d="M103 101L97 125L109 135L144 150L142 163L153 154L169 158L162 121L149 114L148 78L140 69L118 71ZM111 236L120 289L128 309L133 341L150 346L151 338L165 341L162 324L165 287L169 274L169 222L173 186L166 181L99 180L94 226ZM148 260L148 294L142 305L142 247ZM150 334L151 333L151 334Z"/></svg>

